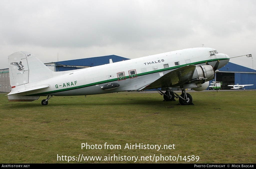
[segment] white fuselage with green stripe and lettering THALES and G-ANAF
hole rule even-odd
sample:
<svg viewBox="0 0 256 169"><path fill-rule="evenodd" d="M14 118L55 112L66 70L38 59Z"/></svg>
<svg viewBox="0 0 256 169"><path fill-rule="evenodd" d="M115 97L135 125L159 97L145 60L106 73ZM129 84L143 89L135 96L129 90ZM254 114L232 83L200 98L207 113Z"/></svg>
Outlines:
<svg viewBox="0 0 256 169"><path fill-rule="evenodd" d="M49 78L46 78L48 75L44 75L42 79L35 77L36 80L31 82L30 79L28 82L24 80L22 85L12 84L11 80L11 86L15 87L8 95L70 96L141 90L170 71L186 65L206 65L207 62L214 66L219 60L218 68L220 68L228 63L227 55L217 52L212 54L213 51L216 50L206 47L190 48L78 70L62 72L47 70L41 74L49 74ZM33 70L29 70L29 73L32 73L31 71ZM110 83L117 83L120 86L111 90L102 89L104 85ZM30 90L40 86L46 87ZM23 92L19 93L19 91Z"/></svg>

